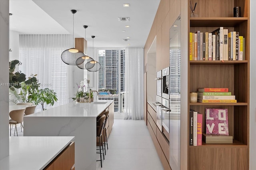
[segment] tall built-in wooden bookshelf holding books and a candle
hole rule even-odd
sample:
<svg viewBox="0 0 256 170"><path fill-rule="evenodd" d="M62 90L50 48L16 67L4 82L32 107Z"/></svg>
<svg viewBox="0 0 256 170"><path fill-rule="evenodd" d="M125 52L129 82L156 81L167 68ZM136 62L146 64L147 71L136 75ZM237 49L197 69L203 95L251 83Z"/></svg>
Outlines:
<svg viewBox="0 0 256 170"><path fill-rule="evenodd" d="M249 0L191 0L197 2L195 13L190 18L188 1L188 32L212 32L218 27L239 31L245 38L245 60L243 61L189 61L188 91L196 92L201 87L229 88L237 103L190 103L189 109L203 114L205 132L205 108L228 109L229 132L232 144L206 144L189 146L188 169L198 170L248 170L249 169L249 76L250 76L250 1ZM233 8L241 7L241 17L233 17ZM188 36L189 42L189 36ZM189 48L189 43L188 43ZM189 94L188 94L189 95ZM188 116L188 131L189 131ZM189 134L188 134L189 139Z"/></svg>

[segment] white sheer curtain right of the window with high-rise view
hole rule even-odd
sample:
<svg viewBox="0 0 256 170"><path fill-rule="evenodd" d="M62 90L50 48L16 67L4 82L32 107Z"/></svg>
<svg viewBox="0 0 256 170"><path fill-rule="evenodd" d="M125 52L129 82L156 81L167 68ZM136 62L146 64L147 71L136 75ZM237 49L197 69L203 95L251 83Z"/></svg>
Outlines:
<svg viewBox="0 0 256 170"><path fill-rule="evenodd" d="M144 49L126 48L124 119L144 119Z"/></svg>

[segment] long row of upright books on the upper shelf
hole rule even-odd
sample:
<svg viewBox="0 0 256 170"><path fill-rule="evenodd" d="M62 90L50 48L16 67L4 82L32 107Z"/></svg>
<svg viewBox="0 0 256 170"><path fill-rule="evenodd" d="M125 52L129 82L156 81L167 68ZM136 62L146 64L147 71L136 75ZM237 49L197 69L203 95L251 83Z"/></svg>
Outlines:
<svg viewBox="0 0 256 170"><path fill-rule="evenodd" d="M210 32L190 33L189 57L190 61L228 61L245 60L245 39L238 31L228 32L219 27Z"/></svg>

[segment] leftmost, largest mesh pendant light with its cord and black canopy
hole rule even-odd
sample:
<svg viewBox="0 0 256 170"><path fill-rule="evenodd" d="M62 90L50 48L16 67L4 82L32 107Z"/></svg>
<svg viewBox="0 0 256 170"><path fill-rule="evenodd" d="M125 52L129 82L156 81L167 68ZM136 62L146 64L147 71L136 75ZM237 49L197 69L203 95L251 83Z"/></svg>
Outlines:
<svg viewBox="0 0 256 170"><path fill-rule="evenodd" d="M68 65L76 65L76 59L83 56L84 53L78 51L78 49L75 49L74 47L74 14L76 14L76 10L71 10L71 12L73 14L73 48L63 51L61 54L61 59Z"/></svg>

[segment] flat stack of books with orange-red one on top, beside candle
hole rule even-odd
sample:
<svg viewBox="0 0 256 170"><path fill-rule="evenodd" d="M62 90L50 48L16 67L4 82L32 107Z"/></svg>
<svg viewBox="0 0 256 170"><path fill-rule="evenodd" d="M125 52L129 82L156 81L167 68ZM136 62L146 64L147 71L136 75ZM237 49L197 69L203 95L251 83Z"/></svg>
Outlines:
<svg viewBox="0 0 256 170"><path fill-rule="evenodd" d="M236 103L236 96L228 88L198 88L197 101L201 103Z"/></svg>

